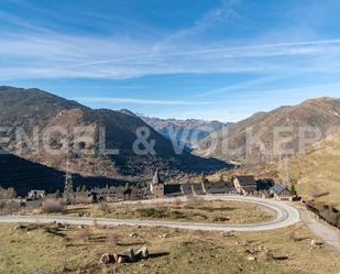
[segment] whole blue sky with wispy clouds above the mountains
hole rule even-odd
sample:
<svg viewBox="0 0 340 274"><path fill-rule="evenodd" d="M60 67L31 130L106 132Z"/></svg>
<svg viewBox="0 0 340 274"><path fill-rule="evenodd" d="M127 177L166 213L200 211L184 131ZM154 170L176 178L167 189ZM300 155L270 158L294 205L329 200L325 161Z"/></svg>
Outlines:
<svg viewBox="0 0 340 274"><path fill-rule="evenodd" d="M338 0L2 0L0 85L239 121L340 95Z"/></svg>

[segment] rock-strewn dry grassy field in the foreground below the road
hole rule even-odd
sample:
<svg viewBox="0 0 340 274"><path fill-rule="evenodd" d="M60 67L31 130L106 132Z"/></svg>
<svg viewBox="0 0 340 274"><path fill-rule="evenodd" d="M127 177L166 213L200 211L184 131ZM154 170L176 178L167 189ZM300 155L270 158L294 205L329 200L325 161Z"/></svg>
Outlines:
<svg viewBox="0 0 340 274"><path fill-rule="evenodd" d="M0 273L339 274L339 254L326 246L311 249L310 239L301 224L230 234L122 226L1 224ZM150 250L149 260L99 264L102 253L124 253L142 245ZM273 259L279 254L288 259Z"/></svg>

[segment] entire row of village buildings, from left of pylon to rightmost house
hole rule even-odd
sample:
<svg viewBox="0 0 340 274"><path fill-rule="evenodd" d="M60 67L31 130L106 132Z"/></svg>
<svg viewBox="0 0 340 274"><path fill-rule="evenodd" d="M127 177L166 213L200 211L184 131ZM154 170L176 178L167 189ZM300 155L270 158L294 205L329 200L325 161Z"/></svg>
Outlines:
<svg viewBox="0 0 340 274"><path fill-rule="evenodd" d="M66 189L66 188L65 188ZM204 179L201 183L166 184L160 172L156 171L152 182L145 188L119 186L94 188L90 190L72 191L67 196L59 194L59 197L72 197L72 202L100 202L100 201L122 201L130 199L147 199L161 197L176 197L190 195L245 195L262 198L275 198L279 200L293 200L289 190L271 179L255 180L254 176L235 176L230 182L210 183ZM26 196L26 206L37 207L44 198L55 196L46 194L44 190L31 190Z"/></svg>

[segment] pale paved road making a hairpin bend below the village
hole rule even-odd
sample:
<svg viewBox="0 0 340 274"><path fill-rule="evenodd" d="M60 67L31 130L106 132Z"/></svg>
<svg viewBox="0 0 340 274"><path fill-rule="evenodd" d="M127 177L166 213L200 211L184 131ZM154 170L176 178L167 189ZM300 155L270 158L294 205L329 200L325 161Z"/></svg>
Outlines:
<svg viewBox="0 0 340 274"><path fill-rule="evenodd" d="M178 222L178 221L154 221L154 220L121 220L121 219L108 219L108 218L84 218L84 217L69 217L69 216L0 216L0 222L63 222L68 224L105 224L105 226L151 226L151 227L168 227L178 229L191 229L191 230L216 230L216 231L262 231L279 229L292 226L299 221L298 211L282 201L261 199L254 197L244 196L202 196L206 200L222 199L241 202L252 202L261 205L275 211L276 216L273 220L262 223L252 224L220 224L220 223L198 223L198 222ZM186 199L185 197L179 199ZM136 201L142 204L151 202L169 202L177 199L156 199L146 201Z"/></svg>

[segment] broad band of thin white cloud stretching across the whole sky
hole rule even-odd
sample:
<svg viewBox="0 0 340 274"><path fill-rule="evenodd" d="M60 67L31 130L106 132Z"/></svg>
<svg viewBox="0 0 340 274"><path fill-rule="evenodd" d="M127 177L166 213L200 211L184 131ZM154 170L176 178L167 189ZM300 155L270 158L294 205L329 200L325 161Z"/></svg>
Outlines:
<svg viewBox="0 0 340 274"><path fill-rule="evenodd" d="M340 61L339 44L340 40L219 47L207 43L187 50L174 45L171 51L153 53L152 43L124 37L2 33L0 78L122 79L162 74L325 70Z"/></svg>

